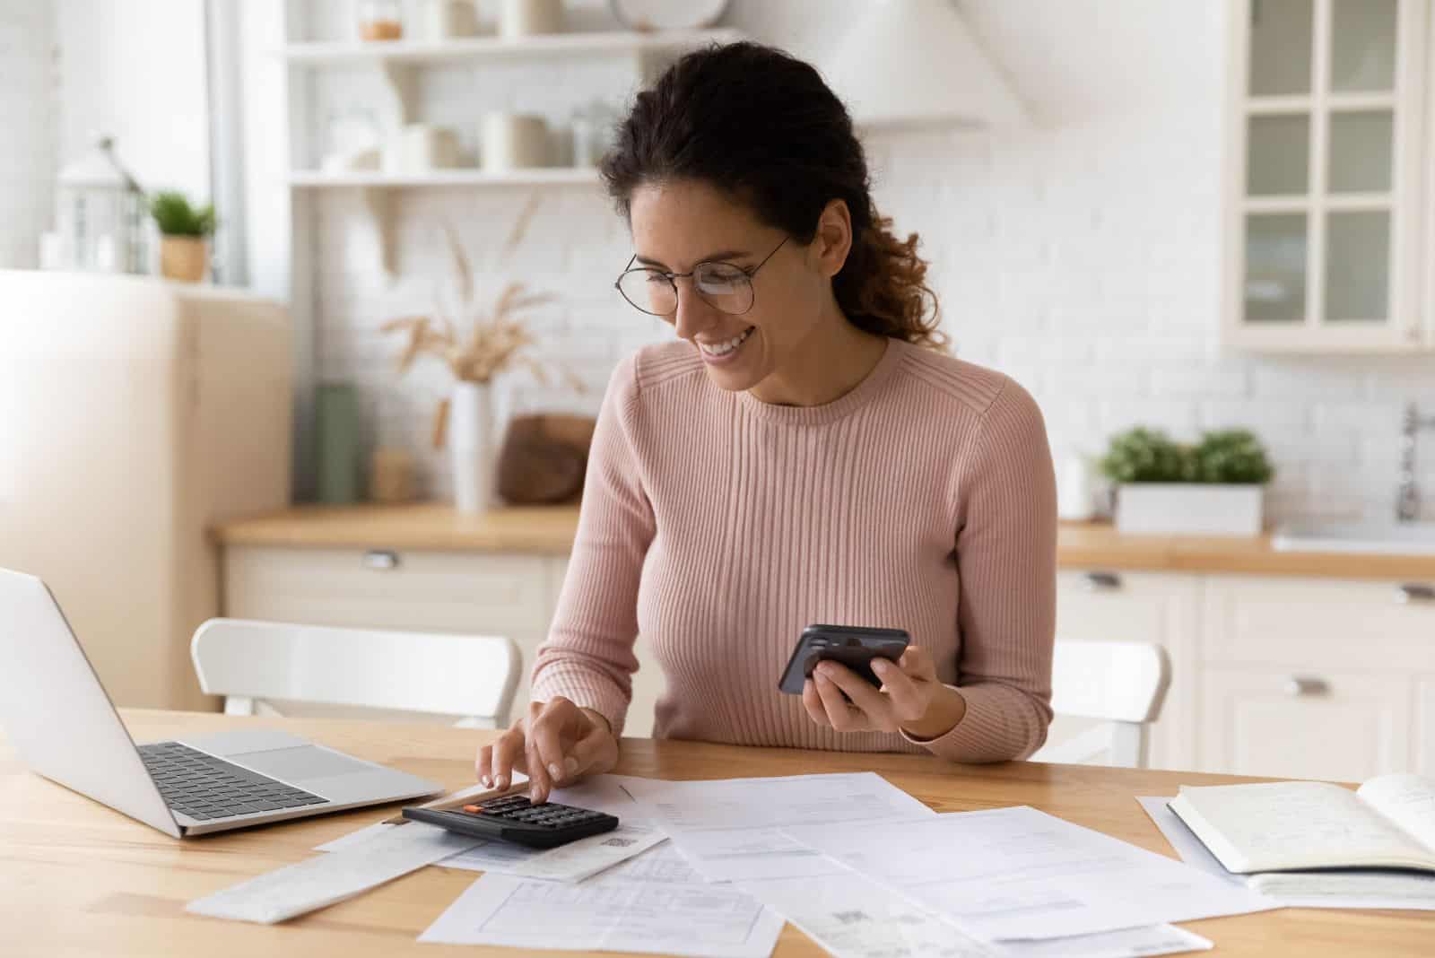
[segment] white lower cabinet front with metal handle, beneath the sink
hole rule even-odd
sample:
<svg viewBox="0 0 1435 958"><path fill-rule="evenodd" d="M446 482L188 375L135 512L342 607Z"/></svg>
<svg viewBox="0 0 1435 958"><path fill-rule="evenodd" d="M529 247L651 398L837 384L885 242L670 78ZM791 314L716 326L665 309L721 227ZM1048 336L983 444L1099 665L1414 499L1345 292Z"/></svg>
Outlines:
<svg viewBox="0 0 1435 958"><path fill-rule="evenodd" d="M1201 770L1359 780L1429 762L1435 604L1403 585L1205 577Z"/></svg>

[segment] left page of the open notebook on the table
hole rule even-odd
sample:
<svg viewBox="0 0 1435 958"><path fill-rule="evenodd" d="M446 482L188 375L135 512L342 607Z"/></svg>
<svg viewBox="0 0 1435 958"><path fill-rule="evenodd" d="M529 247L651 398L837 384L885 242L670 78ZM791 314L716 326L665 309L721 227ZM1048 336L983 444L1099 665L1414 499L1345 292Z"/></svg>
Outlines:
<svg viewBox="0 0 1435 958"><path fill-rule="evenodd" d="M1340 865L1418 865L1429 855L1355 792L1323 782L1181 786L1215 845L1203 840L1237 872ZM1190 823L1190 822L1188 822ZM1227 860L1220 846L1237 853Z"/></svg>

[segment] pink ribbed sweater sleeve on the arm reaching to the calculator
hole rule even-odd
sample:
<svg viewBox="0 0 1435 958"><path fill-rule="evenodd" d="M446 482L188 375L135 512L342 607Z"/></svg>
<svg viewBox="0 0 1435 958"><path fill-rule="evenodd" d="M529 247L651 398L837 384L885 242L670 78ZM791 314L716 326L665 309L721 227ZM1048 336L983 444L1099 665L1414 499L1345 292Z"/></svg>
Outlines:
<svg viewBox="0 0 1435 958"><path fill-rule="evenodd" d="M578 512L578 532L548 638L538 647L532 698L571 698L623 733L637 658L637 592L654 535L633 453L636 357L608 380L593 432Z"/></svg>

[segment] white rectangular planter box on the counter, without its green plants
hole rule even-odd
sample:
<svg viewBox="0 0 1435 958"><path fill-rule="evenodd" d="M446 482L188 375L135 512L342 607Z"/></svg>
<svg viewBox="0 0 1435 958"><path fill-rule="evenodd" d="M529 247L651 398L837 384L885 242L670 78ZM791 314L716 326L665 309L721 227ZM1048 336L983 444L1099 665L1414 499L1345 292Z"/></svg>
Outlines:
<svg viewBox="0 0 1435 958"><path fill-rule="evenodd" d="M1116 489L1116 531L1260 535L1266 486L1129 482Z"/></svg>

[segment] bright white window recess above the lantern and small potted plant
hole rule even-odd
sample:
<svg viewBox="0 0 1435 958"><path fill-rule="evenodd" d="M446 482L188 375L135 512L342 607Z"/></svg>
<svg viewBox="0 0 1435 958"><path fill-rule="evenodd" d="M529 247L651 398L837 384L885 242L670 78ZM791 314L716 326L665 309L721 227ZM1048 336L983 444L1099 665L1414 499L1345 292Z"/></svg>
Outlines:
<svg viewBox="0 0 1435 958"><path fill-rule="evenodd" d="M204 0L57 0L55 10L60 163L106 132L145 189L208 198Z"/></svg>

